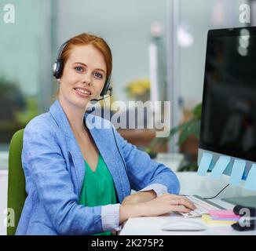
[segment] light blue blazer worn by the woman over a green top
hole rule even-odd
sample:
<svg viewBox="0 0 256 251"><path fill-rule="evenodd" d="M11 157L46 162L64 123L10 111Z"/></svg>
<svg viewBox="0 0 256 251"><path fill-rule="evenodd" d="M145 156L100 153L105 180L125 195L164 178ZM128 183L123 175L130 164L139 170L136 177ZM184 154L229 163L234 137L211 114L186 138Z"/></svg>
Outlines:
<svg viewBox="0 0 256 251"><path fill-rule="evenodd" d="M88 120L87 120L88 119ZM148 154L127 143L104 118L85 114L84 122L105 123L106 129L90 129L93 140L108 166L119 203L150 184L163 184L177 194L177 176ZM119 151L115 144L119 147ZM123 161L121 156L123 157ZM16 235L90 235L101 232L102 206L79 205L85 166L68 118L56 100L49 112L38 115L24 130L22 164L27 199Z"/></svg>

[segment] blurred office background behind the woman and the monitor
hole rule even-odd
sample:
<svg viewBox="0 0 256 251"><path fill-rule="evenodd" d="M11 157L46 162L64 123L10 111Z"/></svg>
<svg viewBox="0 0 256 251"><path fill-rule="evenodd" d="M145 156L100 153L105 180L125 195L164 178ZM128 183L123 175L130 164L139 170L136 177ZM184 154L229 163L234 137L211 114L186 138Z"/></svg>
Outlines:
<svg viewBox="0 0 256 251"><path fill-rule="evenodd" d="M15 7L14 24L5 24L6 4ZM243 4L251 7L245 24ZM174 128L195 117L199 122L207 31L252 26L255 11L254 0L0 0L0 234L9 140L53 103L52 66L64 41L82 32L103 37L113 54L112 101L170 101ZM182 140L178 131L157 144L153 129L119 131L137 147L182 155L189 164L196 162L198 125Z"/></svg>

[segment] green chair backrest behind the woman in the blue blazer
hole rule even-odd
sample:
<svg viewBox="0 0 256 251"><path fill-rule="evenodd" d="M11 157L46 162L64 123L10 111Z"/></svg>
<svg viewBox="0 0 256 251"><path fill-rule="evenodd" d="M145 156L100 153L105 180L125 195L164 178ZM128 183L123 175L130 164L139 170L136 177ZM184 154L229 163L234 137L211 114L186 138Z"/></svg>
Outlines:
<svg viewBox="0 0 256 251"><path fill-rule="evenodd" d="M7 235L15 235L16 227L20 220L27 193L25 190L25 176L21 162L21 151L23 148L24 129L14 133L9 144L9 168L8 168L8 209L14 212L14 227L10 222L7 224ZM10 211L10 212L11 212ZM9 214L11 215L11 213Z"/></svg>

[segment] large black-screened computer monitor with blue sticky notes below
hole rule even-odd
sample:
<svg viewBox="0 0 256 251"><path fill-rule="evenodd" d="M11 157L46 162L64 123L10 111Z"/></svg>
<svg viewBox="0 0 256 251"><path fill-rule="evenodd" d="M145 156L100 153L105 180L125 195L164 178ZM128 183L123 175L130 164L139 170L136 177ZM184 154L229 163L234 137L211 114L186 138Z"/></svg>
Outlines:
<svg viewBox="0 0 256 251"><path fill-rule="evenodd" d="M204 152L231 158L226 175L245 160L243 180L256 163L256 27L208 31L198 162ZM248 199L225 200L256 207Z"/></svg>

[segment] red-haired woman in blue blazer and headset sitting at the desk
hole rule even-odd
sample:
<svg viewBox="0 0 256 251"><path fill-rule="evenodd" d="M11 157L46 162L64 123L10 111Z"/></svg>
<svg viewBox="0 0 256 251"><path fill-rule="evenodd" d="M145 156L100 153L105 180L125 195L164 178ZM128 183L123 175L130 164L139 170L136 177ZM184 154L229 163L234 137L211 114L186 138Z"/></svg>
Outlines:
<svg viewBox="0 0 256 251"><path fill-rule="evenodd" d="M16 235L110 235L129 217L195 209L175 195L179 183L169 168L128 144L107 120L85 114L109 84L112 53L104 39L71 38L53 71L57 100L24 130L27 199ZM93 120L108 129L89 128Z"/></svg>

